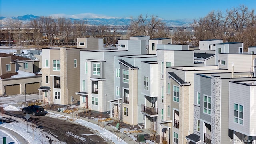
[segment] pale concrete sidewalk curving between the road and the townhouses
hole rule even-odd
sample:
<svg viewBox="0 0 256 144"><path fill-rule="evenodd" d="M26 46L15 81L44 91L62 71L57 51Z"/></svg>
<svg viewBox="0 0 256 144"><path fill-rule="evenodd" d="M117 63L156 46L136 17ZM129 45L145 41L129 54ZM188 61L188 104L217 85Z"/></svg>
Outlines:
<svg viewBox="0 0 256 144"><path fill-rule="evenodd" d="M64 113L64 112L58 112L58 111L53 111L53 110L48 110L48 112L52 112L54 114L59 114L59 115L64 115L64 116L69 116L70 118L78 118L75 114L68 114L68 113ZM79 111L78 111L79 112ZM47 115L46 115L47 116ZM98 125L98 121L96 120L92 120L90 118L84 118L84 117L79 117L79 119L85 120L87 122L91 122L93 124ZM146 132L144 132L144 130L142 130L143 132L141 133L132 133L132 134L126 134L123 132L120 132L118 129L116 129L114 126L111 126L109 124L105 124L104 128L110 132L112 132L113 134L115 134L116 136L118 136L119 138L121 138L122 140L124 140L127 144L138 144L139 142L137 142L136 140L133 140L130 135L133 136L137 136L138 134L148 134ZM103 136L104 137L104 136ZM114 142L110 141L111 143L114 144ZM140 144L143 144L142 142L140 142Z"/></svg>

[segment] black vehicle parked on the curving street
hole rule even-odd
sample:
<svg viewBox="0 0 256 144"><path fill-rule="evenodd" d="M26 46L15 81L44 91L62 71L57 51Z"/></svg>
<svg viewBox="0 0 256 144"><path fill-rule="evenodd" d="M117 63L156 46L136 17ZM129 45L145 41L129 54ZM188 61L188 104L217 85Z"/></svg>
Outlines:
<svg viewBox="0 0 256 144"><path fill-rule="evenodd" d="M46 115L48 112L44 111L44 108L42 106L32 105L22 108L22 113L32 114L33 116L42 116Z"/></svg>

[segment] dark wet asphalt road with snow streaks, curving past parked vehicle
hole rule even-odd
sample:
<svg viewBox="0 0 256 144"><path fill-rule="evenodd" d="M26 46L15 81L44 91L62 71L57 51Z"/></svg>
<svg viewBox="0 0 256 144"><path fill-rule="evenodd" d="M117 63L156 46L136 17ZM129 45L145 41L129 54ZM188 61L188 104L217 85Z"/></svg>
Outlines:
<svg viewBox="0 0 256 144"><path fill-rule="evenodd" d="M21 111L6 111L5 114L27 121L24 118L26 114L23 114ZM97 132L80 124L48 116L30 116L28 122L33 122L38 128L44 129L44 131L67 144L110 144ZM51 144L51 142L49 143Z"/></svg>

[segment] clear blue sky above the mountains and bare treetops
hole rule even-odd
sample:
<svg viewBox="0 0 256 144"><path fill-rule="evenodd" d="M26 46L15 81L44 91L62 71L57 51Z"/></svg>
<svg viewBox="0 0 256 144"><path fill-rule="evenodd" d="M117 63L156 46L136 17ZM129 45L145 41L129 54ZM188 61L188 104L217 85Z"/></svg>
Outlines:
<svg viewBox="0 0 256 144"><path fill-rule="evenodd" d="M0 17L58 16L66 18L198 19L212 10L238 7L256 10L256 0L0 0Z"/></svg>

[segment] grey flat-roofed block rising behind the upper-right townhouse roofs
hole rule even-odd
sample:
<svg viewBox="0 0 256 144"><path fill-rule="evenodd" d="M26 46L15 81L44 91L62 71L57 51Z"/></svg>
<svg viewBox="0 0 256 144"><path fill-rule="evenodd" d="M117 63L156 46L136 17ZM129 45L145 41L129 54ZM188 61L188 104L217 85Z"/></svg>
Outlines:
<svg viewBox="0 0 256 144"><path fill-rule="evenodd" d="M219 65L219 54L230 53L230 54L242 54L244 52L244 43L242 42L226 42L215 44L215 64Z"/></svg>

